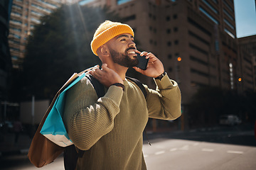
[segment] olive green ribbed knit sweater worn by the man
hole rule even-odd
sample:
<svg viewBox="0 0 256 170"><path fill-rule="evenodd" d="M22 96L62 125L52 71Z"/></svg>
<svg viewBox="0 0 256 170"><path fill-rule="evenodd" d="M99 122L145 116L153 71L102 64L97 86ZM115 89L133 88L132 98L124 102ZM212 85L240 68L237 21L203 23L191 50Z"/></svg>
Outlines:
<svg viewBox="0 0 256 170"><path fill-rule="evenodd" d="M181 115L181 93L166 75L147 86L146 100L132 81L124 91L110 86L102 98L84 77L66 96L64 123L76 147L86 150L77 169L146 169L142 133L148 118L174 120Z"/></svg>

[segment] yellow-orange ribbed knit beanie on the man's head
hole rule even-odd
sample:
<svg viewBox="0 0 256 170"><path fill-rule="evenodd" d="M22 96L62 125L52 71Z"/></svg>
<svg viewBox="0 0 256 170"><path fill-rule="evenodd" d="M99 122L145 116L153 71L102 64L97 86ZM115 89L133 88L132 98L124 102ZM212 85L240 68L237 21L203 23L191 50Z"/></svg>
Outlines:
<svg viewBox="0 0 256 170"><path fill-rule="evenodd" d="M132 28L127 24L112 21L105 21L104 23L100 24L99 28L97 28L95 31L91 42L92 52L97 55L97 49L100 46L122 33L129 33L134 36Z"/></svg>

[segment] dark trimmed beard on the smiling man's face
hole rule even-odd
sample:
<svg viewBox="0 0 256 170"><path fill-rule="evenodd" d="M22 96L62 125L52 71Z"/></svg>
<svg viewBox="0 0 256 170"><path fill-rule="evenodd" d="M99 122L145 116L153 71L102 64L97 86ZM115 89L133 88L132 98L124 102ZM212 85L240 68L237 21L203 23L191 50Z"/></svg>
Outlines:
<svg viewBox="0 0 256 170"><path fill-rule="evenodd" d="M125 50L124 54L110 49L110 55L112 57L113 62L128 68L137 66L137 64L139 63L139 60L137 59L137 57L130 58L128 56L127 51L130 49L134 49L134 48L128 48L127 50Z"/></svg>

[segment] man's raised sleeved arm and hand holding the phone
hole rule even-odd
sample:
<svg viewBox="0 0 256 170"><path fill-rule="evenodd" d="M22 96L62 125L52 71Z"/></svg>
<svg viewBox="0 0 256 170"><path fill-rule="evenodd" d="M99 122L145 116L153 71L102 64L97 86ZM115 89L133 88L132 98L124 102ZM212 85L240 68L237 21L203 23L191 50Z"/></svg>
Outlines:
<svg viewBox="0 0 256 170"><path fill-rule="evenodd" d="M164 65L151 52L137 52L149 58L146 70L134 67L147 77L159 77L164 73ZM165 120L174 120L181 115L181 91L178 84L170 80L167 74L160 79L154 79L156 90L148 89L146 104L149 110L149 117Z"/></svg>

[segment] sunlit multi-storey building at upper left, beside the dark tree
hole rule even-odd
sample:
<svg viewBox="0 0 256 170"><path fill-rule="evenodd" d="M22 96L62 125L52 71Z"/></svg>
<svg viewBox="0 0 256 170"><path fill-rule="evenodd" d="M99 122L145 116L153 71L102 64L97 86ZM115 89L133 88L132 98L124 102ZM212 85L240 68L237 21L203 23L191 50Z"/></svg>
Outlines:
<svg viewBox="0 0 256 170"><path fill-rule="evenodd" d="M22 69L28 35L48 15L62 4L60 0L14 0L11 7L9 45L14 69Z"/></svg>

